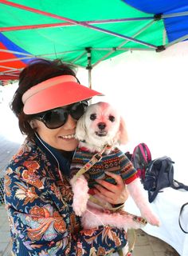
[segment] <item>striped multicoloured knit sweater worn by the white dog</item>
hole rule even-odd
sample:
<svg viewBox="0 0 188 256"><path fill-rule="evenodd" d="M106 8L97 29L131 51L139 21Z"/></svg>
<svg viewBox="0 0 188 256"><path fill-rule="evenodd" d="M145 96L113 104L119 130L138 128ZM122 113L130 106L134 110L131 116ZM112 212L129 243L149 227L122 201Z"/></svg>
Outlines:
<svg viewBox="0 0 188 256"><path fill-rule="evenodd" d="M71 176L76 174L93 156L86 148L77 148L72 158ZM115 180L105 174L105 171L119 174L123 178L125 184L132 182L137 178L136 170L131 161L118 148L112 150L110 154L104 154L100 162L96 162L84 176L88 180L90 189L96 184L95 179L104 179L107 182L115 184Z"/></svg>

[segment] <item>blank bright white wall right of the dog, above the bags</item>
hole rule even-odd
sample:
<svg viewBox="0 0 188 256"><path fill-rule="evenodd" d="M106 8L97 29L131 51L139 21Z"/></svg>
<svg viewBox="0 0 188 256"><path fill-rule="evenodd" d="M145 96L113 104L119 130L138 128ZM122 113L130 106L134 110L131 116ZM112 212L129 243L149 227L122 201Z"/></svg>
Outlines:
<svg viewBox="0 0 188 256"><path fill-rule="evenodd" d="M96 66L92 88L121 110L129 134L123 150L146 142L153 158L170 156L175 178L188 184L187 66L188 42L161 53L128 52ZM85 71L78 77L87 84Z"/></svg>

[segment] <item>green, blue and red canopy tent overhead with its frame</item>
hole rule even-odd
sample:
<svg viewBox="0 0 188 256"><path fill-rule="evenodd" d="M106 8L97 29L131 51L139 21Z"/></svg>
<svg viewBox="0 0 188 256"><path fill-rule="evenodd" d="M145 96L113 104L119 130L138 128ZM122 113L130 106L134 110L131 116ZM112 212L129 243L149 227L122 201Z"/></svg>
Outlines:
<svg viewBox="0 0 188 256"><path fill-rule="evenodd" d="M91 71L127 50L159 52L188 38L187 0L0 0L0 11L0 80L18 79L33 58Z"/></svg>

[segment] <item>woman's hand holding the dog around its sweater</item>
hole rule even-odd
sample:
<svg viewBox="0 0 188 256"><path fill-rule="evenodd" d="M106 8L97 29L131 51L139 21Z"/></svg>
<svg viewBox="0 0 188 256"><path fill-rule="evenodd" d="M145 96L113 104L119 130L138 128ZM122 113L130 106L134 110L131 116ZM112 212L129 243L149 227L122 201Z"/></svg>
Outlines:
<svg viewBox="0 0 188 256"><path fill-rule="evenodd" d="M95 193L100 198L105 199L107 202L113 205L123 204L128 198L128 191L123 183L123 179L118 174L112 174L108 171L106 171L105 173L115 179L116 185L105 182L101 179L96 179L96 182L98 184L95 186Z"/></svg>

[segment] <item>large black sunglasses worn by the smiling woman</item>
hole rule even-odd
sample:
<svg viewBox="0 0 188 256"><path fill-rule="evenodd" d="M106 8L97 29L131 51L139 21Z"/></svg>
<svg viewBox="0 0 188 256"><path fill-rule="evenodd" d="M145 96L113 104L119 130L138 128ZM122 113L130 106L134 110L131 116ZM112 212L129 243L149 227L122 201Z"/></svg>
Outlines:
<svg viewBox="0 0 188 256"><path fill-rule="evenodd" d="M67 122L69 114L72 118L78 120L88 107L87 101L76 102L65 107L58 107L57 109L48 110L40 115L34 116L37 120L44 122L49 129L57 129Z"/></svg>

